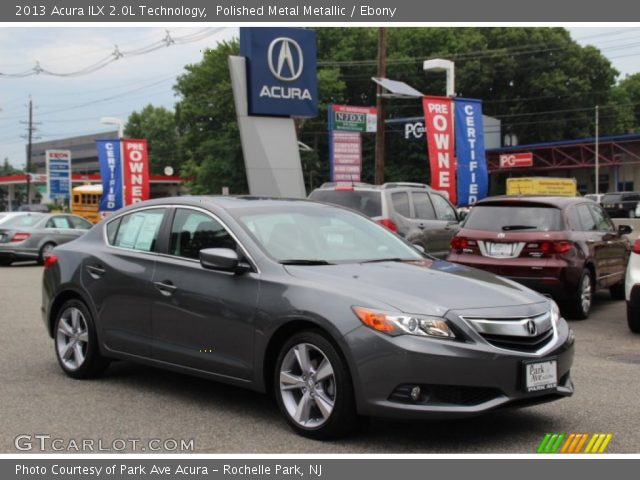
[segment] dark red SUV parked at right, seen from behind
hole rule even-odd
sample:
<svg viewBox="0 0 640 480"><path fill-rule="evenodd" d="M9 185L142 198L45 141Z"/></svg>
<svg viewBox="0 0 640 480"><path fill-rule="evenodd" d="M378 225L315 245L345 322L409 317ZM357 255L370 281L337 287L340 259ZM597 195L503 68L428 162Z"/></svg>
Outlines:
<svg viewBox="0 0 640 480"><path fill-rule="evenodd" d="M631 230L583 198L490 197L473 207L447 260L549 294L565 316L583 319L596 289L624 298Z"/></svg>

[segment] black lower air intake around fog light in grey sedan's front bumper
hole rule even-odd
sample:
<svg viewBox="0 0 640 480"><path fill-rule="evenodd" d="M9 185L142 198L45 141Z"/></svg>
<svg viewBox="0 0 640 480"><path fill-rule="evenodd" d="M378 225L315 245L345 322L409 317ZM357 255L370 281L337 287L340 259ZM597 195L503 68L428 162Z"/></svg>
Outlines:
<svg viewBox="0 0 640 480"><path fill-rule="evenodd" d="M422 395L417 401L411 399L411 390L419 386ZM418 405L463 405L472 406L488 402L502 396L497 388L468 387L458 385L400 385L396 388L389 400L401 403Z"/></svg>

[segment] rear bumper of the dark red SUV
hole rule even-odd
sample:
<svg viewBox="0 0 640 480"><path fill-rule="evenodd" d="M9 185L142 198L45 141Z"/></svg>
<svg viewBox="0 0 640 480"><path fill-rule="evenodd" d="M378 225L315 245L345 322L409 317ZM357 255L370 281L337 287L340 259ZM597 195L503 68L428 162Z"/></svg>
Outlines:
<svg viewBox="0 0 640 480"><path fill-rule="evenodd" d="M564 300L578 288L582 268L557 258L495 259L481 255L452 253L450 262L485 270L518 282L537 292Z"/></svg>

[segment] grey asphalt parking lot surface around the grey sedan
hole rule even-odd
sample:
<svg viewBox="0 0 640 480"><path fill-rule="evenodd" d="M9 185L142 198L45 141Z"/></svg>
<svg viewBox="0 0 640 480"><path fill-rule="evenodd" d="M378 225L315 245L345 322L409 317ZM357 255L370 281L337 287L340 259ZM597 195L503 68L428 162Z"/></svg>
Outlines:
<svg viewBox="0 0 640 480"><path fill-rule="evenodd" d="M239 388L127 362L98 380L66 377L40 318L41 276L30 263L0 267L2 453L18 452L17 436L38 434L107 445L193 439L201 453L534 453L547 432L613 433L608 453L640 452L640 336L627 328L624 302L607 292L589 320L571 322L572 398L464 421L376 419L355 437L323 443L295 435L274 402Z"/></svg>

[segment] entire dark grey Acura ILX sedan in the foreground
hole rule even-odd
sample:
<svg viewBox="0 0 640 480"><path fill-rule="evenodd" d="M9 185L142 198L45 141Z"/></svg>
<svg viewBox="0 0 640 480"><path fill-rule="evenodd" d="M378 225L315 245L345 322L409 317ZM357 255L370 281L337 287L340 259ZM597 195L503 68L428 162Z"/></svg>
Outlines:
<svg viewBox="0 0 640 480"><path fill-rule="evenodd" d="M47 257L42 311L71 377L124 359L271 392L312 438L573 393L553 301L305 200L128 207Z"/></svg>

